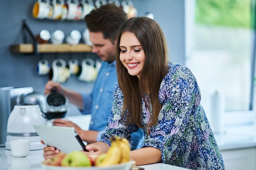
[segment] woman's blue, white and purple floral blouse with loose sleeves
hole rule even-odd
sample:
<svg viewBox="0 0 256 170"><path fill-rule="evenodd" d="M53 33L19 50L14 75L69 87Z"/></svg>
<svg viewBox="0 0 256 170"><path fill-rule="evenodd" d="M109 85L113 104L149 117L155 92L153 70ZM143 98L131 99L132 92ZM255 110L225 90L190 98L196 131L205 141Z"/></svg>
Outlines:
<svg viewBox="0 0 256 170"><path fill-rule="evenodd" d="M168 74L159 89L162 109L157 124L147 134L148 116L142 99L143 147L161 150L162 162L197 170L224 170L224 163L211 131L204 109L200 105L200 89L191 71L183 65L170 62ZM124 96L116 86L114 102L106 131L101 142L111 145L112 135L126 137L137 131L136 124L126 126L121 118ZM150 104L150 102L149 102ZM152 109L150 109L151 113ZM127 111L125 115L128 114ZM124 116L125 116L124 115Z"/></svg>

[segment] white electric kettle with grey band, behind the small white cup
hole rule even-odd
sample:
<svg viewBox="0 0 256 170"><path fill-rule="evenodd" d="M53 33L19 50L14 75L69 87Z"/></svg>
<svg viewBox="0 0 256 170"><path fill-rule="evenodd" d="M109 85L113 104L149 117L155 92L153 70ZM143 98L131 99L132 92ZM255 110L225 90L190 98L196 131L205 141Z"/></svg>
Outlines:
<svg viewBox="0 0 256 170"><path fill-rule="evenodd" d="M30 150L43 149L44 145L40 143L41 138L33 124L46 125L39 105L15 105L7 122L5 149L11 150L10 140L14 139L30 139Z"/></svg>

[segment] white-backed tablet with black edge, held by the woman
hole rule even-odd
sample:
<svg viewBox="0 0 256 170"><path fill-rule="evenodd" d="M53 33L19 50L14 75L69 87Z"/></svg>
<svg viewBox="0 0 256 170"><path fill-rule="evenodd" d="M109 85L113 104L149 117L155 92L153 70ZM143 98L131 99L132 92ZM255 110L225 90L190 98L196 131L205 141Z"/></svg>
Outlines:
<svg viewBox="0 0 256 170"><path fill-rule="evenodd" d="M88 151L74 127L36 124L33 126L46 146L53 146L64 153L70 153L74 150Z"/></svg>

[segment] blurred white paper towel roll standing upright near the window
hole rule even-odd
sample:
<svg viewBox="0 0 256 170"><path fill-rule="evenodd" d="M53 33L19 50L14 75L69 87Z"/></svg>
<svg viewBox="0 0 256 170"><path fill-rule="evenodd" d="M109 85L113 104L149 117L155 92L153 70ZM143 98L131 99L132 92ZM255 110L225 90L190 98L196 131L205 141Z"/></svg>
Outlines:
<svg viewBox="0 0 256 170"><path fill-rule="evenodd" d="M211 129L214 133L224 133L224 112L225 112L225 100L224 96L216 91L211 96Z"/></svg>

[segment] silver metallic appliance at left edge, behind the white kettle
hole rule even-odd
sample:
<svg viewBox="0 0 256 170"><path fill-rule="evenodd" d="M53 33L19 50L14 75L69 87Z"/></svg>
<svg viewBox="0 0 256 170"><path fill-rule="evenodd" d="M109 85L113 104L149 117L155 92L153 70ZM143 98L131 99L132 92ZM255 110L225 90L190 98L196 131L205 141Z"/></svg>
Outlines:
<svg viewBox="0 0 256 170"><path fill-rule="evenodd" d="M0 87L0 146L5 145L7 121L18 98L22 94L33 92L33 87Z"/></svg>

